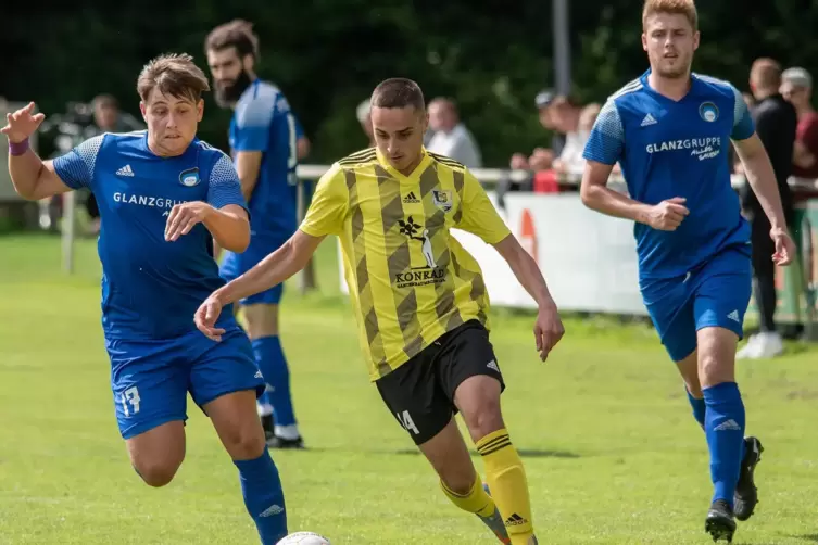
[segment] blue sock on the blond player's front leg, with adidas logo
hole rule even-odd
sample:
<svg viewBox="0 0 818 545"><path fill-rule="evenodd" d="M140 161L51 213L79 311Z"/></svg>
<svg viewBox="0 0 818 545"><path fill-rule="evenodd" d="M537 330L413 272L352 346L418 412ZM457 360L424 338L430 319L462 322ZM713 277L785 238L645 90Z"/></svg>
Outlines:
<svg viewBox="0 0 818 545"><path fill-rule="evenodd" d="M744 403L735 382L722 382L703 392L707 405L704 429L715 489L713 500L723 499L732 507L744 455Z"/></svg>

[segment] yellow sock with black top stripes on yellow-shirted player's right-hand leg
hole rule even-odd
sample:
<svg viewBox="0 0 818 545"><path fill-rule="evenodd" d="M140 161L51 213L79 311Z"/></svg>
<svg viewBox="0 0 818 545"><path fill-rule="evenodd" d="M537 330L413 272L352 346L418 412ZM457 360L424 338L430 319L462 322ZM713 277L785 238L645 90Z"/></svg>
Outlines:
<svg viewBox="0 0 818 545"><path fill-rule="evenodd" d="M486 480L494 498L512 545L537 543L531 537L531 502L526 470L506 430L489 433L477 442L477 452L486 465Z"/></svg>

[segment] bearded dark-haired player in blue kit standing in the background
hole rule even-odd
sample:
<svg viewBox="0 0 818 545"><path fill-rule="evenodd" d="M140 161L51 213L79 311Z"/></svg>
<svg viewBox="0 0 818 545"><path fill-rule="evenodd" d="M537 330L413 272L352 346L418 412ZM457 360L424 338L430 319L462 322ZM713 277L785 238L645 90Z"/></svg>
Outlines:
<svg viewBox="0 0 818 545"><path fill-rule="evenodd" d="M248 251L228 251L222 263L222 276L232 280L295 232L300 125L281 91L254 73L259 39L250 23L236 20L214 28L204 49L217 101L234 110L230 147L251 213ZM259 406L267 444L301 448L303 440L292 407L290 373L278 334L282 289L279 284L239 303L256 364L267 383Z"/></svg>

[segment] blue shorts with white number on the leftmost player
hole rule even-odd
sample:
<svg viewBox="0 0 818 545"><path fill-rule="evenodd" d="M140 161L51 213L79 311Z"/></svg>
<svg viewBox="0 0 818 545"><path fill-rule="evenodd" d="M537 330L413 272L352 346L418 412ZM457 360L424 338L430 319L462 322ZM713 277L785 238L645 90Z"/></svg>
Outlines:
<svg viewBox="0 0 818 545"><path fill-rule="evenodd" d="M166 422L187 420L187 394L203 407L222 395L255 390L264 380L250 340L238 327L222 342L198 330L174 340L108 340L111 388L123 439Z"/></svg>

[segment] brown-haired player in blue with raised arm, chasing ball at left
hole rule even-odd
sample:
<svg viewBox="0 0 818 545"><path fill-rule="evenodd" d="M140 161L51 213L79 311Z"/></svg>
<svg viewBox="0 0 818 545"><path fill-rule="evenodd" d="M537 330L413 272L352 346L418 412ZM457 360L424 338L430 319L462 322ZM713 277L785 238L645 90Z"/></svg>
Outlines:
<svg viewBox="0 0 818 545"><path fill-rule="evenodd" d="M241 252L250 227L229 157L196 138L209 90L189 55L163 55L137 83L148 130L104 134L41 161L28 138L42 123L29 104L8 116L9 170L38 200L90 189L102 217L102 327L119 431L137 473L171 482L185 457L186 401L211 418L239 471L261 542L287 534L278 470L255 414L263 391L250 342L231 313L222 343L202 337L193 313L225 282L212 241Z"/></svg>

